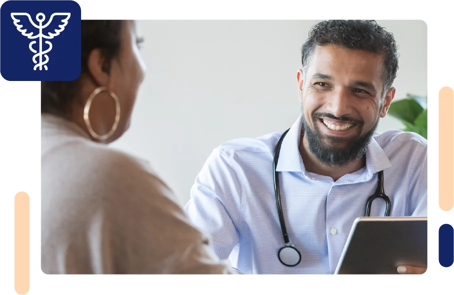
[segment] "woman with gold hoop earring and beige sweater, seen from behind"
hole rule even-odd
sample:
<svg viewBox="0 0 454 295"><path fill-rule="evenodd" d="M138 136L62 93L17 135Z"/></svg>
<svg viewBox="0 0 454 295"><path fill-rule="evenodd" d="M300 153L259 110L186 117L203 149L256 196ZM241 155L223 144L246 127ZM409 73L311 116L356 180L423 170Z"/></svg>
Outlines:
<svg viewBox="0 0 454 295"><path fill-rule="evenodd" d="M82 20L82 71L41 84L41 275L224 275L147 162L108 147L145 65L135 19Z"/></svg>

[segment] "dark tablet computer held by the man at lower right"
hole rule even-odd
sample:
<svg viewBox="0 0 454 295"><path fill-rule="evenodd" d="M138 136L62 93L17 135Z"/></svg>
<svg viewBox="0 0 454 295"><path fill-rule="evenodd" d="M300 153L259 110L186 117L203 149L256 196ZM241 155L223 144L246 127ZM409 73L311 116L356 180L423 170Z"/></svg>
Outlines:
<svg viewBox="0 0 454 295"><path fill-rule="evenodd" d="M356 218L334 275L398 275L399 265L427 268L427 217Z"/></svg>

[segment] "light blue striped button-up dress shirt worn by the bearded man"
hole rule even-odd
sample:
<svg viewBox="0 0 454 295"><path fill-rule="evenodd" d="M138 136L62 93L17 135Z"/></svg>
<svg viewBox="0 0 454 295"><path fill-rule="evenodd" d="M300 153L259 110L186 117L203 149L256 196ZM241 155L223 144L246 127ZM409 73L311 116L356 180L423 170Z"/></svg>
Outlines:
<svg viewBox="0 0 454 295"><path fill-rule="evenodd" d="M298 149L300 115L282 141L277 164L285 224L301 262L283 265L284 245L273 184L274 147L282 132L227 141L211 153L185 206L194 224L211 236L221 259L252 275L330 275L356 217L383 170L391 216L427 216L427 140L412 132L376 132L366 148L366 165L337 181L305 170ZM376 199L371 216L383 216ZM235 262L236 261L236 262Z"/></svg>

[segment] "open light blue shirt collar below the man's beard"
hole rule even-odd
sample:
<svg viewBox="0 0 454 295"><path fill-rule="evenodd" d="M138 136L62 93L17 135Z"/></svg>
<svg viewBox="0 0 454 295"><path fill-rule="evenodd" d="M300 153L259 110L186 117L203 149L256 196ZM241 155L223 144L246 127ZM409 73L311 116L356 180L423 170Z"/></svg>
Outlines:
<svg viewBox="0 0 454 295"><path fill-rule="evenodd" d="M282 140L276 171L300 172L307 176L308 172L304 168L304 163L298 148L301 139L301 127L303 123L302 116L302 114L298 116L298 119L293 123L290 130L288 130ZM372 137L366 147L365 170L367 172L362 180L367 181L373 176L374 173L390 166L391 162L385 152L375 138Z"/></svg>

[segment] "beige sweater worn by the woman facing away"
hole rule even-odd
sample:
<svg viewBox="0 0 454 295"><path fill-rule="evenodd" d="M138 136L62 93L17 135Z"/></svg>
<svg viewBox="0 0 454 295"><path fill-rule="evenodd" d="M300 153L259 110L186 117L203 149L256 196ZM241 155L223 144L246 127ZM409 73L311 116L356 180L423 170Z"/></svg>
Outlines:
<svg viewBox="0 0 454 295"><path fill-rule="evenodd" d="M41 275L224 275L146 161L41 115Z"/></svg>

